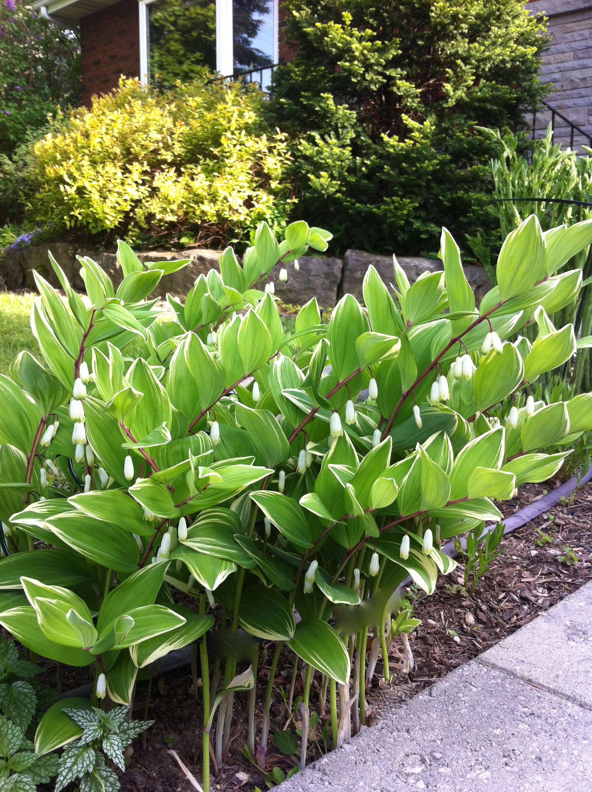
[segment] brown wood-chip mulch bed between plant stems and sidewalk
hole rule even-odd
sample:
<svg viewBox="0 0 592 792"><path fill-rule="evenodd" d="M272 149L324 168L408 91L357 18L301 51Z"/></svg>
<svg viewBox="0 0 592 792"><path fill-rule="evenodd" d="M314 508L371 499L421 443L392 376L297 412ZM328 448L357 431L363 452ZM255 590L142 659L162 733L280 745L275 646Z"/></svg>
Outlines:
<svg viewBox="0 0 592 792"><path fill-rule="evenodd" d="M518 497L500 505L504 516L510 516L524 508L544 490L552 489L560 482L546 485L525 485ZM410 645L416 661L414 672L401 671L402 649L400 639L391 647L389 664L390 683L384 682L382 661L376 664L372 685L367 692L369 706L368 722L380 715L382 710L401 705L430 684L441 679L453 668L457 668L492 645L529 623L541 611L563 600L577 588L592 580L592 484L575 493L571 505L560 503L548 512L519 528L502 540L502 552L491 565L491 569L476 588L472 596L464 589L464 568L459 565L447 577L440 577L437 590L432 596L421 596L422 592L407 589L407 599L413 602L414 617L422 624L411 634ZM540 529L540 533L537 532ZM569 556L564 546L571 548L578 561L568 565ZM563 558L563 560L560 560ZM457 641L454 638L457 638ZM261 718L265 688L269 679L269 661L273 644L269 644L268 660L258 671L258 698L256 706L256 737L261 731ZM270 711L269 744L267 767L281 767L285 773L294 767L298 757L282 756L273 744L273 734L283 729L288 721L288 711L282 702L280 688L288 691L292 676L293 654L286 650L278 664ZM301 666L301 664L300 664ZM300 669L299 666L299 669ZM54 666L55 668L55 666ZM88 672L64 668L64 689L76 687L88 680ZM198 669L201 676L201 671ZM52 676L54 679L52 679ZM53 668L48 668L44 681L55 682ZM294 699L302 692L300 672L296 677ZM315 676L311 690L311 713L318 710L320 675ZM147 699L147 682L138 683L134 701L134 718L143 718ZM327 695L326 717L329 716ZM146 733L146 744L142 737L133 744L125 775L121 776L124 792L189 792L192 786L178 767L169 748L178 752L181 760L201 781L201 691L196 701L193 698L193 683L188 666L167 672L152 683L148 718L155 725ZM212 790L244 790L251 792L255 786L265 790L265 777L258 767L243 755L246 743L246 696L235 698L233 736L227 762L220 775L212 774ZM323 744L320 729L316 727L319 744ZM288 729L294 731L292 724ZM309 741L309 761L319 758L324 748ZM212 767L213 770L213 767Z"/></svg>

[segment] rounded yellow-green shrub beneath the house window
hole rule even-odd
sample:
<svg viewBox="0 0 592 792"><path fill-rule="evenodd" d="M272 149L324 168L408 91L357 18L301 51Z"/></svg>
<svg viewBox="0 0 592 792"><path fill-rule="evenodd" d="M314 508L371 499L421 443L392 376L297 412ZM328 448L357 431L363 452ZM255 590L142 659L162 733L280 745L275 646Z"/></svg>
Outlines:
<svg viewBox="0 0 592 792"><path fill-rule="evenodd" d="M159 93L122 80L32 145L29 215L129 239L189 232L226 242L262 220L279 229L288 154L283 135L265 128L262 101L235 83Z"/></svg>

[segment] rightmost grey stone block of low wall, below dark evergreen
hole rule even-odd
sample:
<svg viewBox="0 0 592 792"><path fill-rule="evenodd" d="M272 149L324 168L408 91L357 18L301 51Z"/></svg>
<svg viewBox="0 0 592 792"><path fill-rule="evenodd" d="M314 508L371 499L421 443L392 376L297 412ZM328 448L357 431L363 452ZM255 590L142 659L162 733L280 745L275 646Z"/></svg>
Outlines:
<svg viewBox="0 0 592 792"><path fill-rule="evenodd" d="M444 267L440 259L422 257L397 257L399 265L405 271L410 284L414 284L422 272L439 272ZM343 279L340 295L353 294L357 299L362 299L362 284L366 270L372 265L385 284L395 283L395 273L392 267L392 256L377 256L366 253L364 250L348 250L343 261ZM475 292L475 302L479 303L487 291L491 289L491 281L483 267L463 267L468 283Z"/></svg>

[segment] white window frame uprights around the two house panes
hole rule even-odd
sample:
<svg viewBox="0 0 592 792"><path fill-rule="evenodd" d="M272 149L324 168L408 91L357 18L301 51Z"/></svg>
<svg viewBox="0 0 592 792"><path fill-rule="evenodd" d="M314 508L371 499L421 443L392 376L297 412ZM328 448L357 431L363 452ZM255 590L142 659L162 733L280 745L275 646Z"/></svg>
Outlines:
<svg viewBox="0 0 592 792"><path fill-rule="evenodd" d="M138 0L139 11L139 82L148 84L148 9L154 0ZM280 0L273 0L273 63L279 51ZM216 71L231 77L235 70L232 37L232 0L216 0Z"/></svg>

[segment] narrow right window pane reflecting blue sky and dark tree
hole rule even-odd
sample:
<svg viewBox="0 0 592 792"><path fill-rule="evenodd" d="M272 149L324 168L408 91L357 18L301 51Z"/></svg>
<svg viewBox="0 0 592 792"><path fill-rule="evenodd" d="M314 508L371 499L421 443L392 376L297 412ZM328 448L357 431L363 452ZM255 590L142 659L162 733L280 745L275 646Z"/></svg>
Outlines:
<svg viewBox="0 0 592 792"><path fill-rule="evenodd" d="M233 0L235 73L273 63L273 0Z"/></svg>

